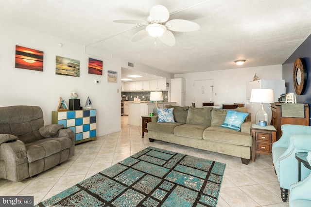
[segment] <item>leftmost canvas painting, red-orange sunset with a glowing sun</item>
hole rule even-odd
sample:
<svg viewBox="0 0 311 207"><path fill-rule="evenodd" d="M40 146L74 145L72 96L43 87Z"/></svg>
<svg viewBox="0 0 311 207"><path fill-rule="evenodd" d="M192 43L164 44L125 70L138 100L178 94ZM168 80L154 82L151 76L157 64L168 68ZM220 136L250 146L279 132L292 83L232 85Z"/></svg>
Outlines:
<svg viewBox="0 0 311 207"><path fill-rule="evenodd" d="M43 71L43 52L17 45L15 47L15 67Z"/></svg>

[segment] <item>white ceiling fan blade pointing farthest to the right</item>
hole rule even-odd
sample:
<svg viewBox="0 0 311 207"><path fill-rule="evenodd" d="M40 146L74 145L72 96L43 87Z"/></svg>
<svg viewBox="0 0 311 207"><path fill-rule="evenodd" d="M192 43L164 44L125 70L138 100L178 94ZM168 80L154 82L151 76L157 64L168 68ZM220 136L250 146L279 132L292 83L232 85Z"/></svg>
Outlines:
<svg viewBox="0 0 311 207"><path fill-rule="evenodd" d="M200 25L184 19L172 19L165 23L168 30L176 32L192 32L200 29Z"/></svg>

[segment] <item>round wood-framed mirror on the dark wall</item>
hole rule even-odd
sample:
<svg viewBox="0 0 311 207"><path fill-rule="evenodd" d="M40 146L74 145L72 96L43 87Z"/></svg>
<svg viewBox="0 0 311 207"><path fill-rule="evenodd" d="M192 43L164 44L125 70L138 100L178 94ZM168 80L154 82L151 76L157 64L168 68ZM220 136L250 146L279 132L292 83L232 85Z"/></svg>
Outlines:
<svg viewBox="0 0 311 207"><path fill-rule="evenodd" d="M293 70L294 89L297 95L302 95L305 92L307 78L308 74L305 61L302 58L297 58Z"/></svg>

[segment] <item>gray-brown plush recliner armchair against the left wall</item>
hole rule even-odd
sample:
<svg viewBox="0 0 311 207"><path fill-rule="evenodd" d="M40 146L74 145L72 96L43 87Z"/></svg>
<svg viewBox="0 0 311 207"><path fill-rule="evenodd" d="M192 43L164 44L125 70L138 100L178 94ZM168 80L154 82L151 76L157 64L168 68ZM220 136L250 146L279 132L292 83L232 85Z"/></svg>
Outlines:
<svg viewBox="0 0 311 207"><path fill-rule="evenodd" d="M38 106L0 107L0 178L21 181L74 155L75 136L63 125L44 126Z"/></svg>

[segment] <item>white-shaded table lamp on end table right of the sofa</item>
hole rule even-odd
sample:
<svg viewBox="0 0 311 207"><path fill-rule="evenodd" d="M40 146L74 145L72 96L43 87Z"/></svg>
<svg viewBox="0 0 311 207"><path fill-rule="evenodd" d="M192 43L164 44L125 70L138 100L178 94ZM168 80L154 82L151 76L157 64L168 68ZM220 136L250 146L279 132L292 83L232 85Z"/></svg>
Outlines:
<svg viewBox="0 0 311 207"><path fill-rule="evenodd" d="M252 89L249 102L260 103L259 110L256 112L256 124L265 121L268 125L268 113L264 111L263 103L274 103L273 89Z"/></svg>

